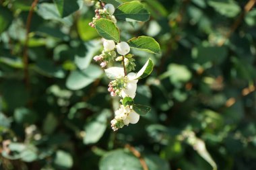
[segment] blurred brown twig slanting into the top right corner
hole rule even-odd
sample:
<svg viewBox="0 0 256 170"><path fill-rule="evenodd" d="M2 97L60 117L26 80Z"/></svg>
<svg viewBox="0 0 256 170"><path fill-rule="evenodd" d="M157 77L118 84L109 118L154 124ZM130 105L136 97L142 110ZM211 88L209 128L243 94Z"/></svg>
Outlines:
<svg viewBox="0 0 256 170"><path fill-rule="evenodd" d="M244 7L243 12L237 17L237 19L234 21L234 24L231 26L230 31L226 34L226 36L222 39L222 41L220 41L218 43L218 46L223 46L224 43L226 42L226 40L228 40L228 38L230 38L230 36L232 35L232 33L236 30L236 28L238 28L238 26L241 24L241 22L243 21L245 14L247 12L249 12L253 6L255 5L256 0L249 0L247 2L247 4Z"/></svg>

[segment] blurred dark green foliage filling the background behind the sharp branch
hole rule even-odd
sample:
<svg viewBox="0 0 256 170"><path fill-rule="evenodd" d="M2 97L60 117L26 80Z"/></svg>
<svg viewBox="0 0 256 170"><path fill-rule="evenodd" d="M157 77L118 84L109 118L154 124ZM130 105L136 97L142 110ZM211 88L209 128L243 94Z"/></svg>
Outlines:
<svg viewBox="0 0 256 170"><path fill-rule="evenodd" d="M155 63L135 97L152 111L117 132L94 7L32 3L0 0L0 169L256 169L254 0L143 0L150 21L118 22L162 54L132 51Z"/></svg>

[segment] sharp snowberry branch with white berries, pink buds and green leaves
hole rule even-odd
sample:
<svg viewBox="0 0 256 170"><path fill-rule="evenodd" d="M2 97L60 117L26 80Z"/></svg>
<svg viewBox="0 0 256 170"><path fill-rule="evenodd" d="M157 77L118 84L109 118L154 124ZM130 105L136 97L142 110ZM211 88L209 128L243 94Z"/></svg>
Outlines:
<svg viewBox="0 0 256 170"><path fill-rule="evenodd" d="M150 19L150 13L139 1L98 1L94 7L95 17L89 25L102 36L104 47L101 54L94 56L94 60L112 80L108 85L110 95L120 97L119 109L115 111L115 118L110 122L113 130L118 130L128 124L136 124L139 116L150 112L150 107L134 103L133 99L139 79L150 75L154 64L149 58L135 73L135 58L130 53L131 48L160 53L160 46L154 38L148 36L139 36L127 41L120 38L119 22L146 22Z"/></svg>

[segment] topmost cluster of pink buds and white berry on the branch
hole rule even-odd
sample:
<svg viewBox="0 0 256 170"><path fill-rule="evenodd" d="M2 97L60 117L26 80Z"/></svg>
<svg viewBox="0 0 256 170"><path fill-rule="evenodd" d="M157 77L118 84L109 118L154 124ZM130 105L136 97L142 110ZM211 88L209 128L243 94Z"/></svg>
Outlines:
<svg viewBox="0 0 256 170"><path fill-rule="evenodd" d="M117 19L113 15L114 12L115 12L115 7L110 3L104 5L103 9L95 9L95 17L92 18L92 22L89 23L89 26L94 28L96 21L100 18L110 19L114 23L117 23Z"/></svg>

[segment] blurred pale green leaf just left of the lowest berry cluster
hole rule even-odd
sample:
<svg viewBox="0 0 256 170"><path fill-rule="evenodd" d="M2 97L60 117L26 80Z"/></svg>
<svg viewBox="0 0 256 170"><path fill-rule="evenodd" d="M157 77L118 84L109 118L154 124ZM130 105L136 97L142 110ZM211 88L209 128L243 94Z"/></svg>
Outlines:
<svg viewBox="0 0 256 170"><path fill-rule="evenodd" d="M84 127L86 132L84 144L93 144L100 140L106 130L107 120L110 115L111 112L109 110L103 110L96 118L86 124Z"/></svg>

